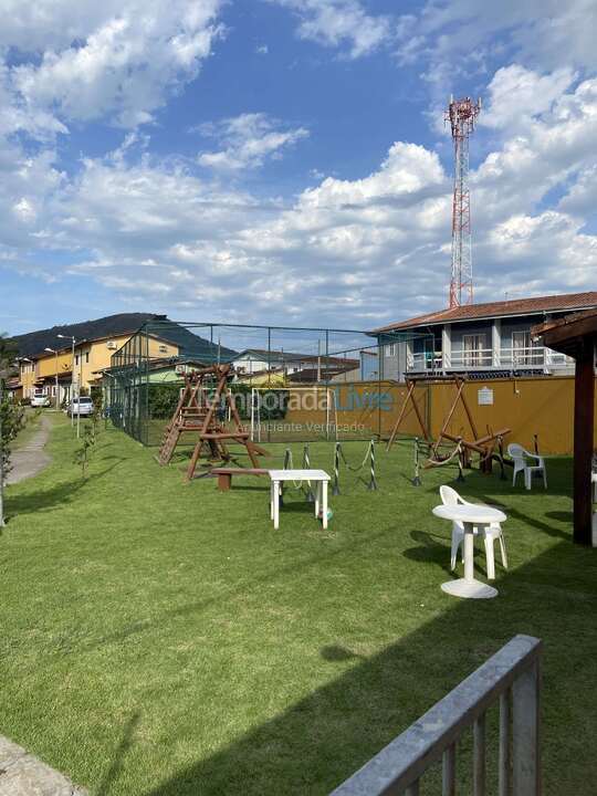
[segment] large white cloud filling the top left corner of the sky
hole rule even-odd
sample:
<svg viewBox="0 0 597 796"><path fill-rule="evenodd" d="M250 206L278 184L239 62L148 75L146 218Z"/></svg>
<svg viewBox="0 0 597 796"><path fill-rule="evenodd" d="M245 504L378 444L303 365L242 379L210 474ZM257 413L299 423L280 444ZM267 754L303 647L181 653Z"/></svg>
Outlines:
<svg viewBox="0 0 597 796"><path fill-rule="evenodd" d="M11 91L29 114L62 122L151 121L168 92L196 77L222 31L220 0L8 1L0 52L20 53Z"/></svg>

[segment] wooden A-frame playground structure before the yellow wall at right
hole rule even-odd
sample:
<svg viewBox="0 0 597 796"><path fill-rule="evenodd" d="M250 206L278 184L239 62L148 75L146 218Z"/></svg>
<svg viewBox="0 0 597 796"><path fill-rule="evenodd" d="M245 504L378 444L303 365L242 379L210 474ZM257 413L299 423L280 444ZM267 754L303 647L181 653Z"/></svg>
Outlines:
<svg viewBox="0 0 597 796"><path fill-rule="evenodd" d="M421 415L421 410L419 405L417 404L416 397L415 397L415 388L420 384L429 384L430 381L434 383L443 383L443 384L452 384L454 386L454 396L452 404L447 412L447 415L443 418L443 422L441 426L441 430L438 434L438 438L433 440L428 422L423 419ZM442 455L440 452L440 448L444 444L444 440L449 440L450 442L453 442L457 448L460 449L461 455L462 455L462 465L463 467L470 467L470 460L471 454L479 453L480 455L480 468L483 472L491 472L491 467L494 458L498 458L500 461L503 461L501 446L503 438L510 433L509 428L500 429L499 431L492 431L489 427L486 429L485 434L480 434L476 425L474 422L474 418L472 416L471 409L467 402L467 397L464 395L464 385L467 384L467 379L463 376L417 376L406 379L406 384L408 387L407 395L405 397L405 401L400 408L400 412L398 415L398 418L396 419L396 422L394 425L394 428L391 430L390 437L388 439L388 443L386 446L386 450L389 450L391 446L394 444L394 441L396 440L396 436L398 434L400 430L400 426L402 425L402 421L406 417L406 412L408 409L408 406L411 405L412 409L415 410L415 415L417 417L417 421L420 426L421 433L429 447L429 459L426 467L433 467L437 464L442 464L447 462L449 459L453 458L454 451L450 455ZM461 436L452 434L448 431L448 427L450 426L450 422L452 420L452 417L454 415L454 411L457 410L457 407L459 404L464 409L464 415L467 416L469 426L470 426L470 432L471 437L469 439L465 439ZM498 450L496 450L498 449ZM498 453L500 455L498 455Z"/></svg>

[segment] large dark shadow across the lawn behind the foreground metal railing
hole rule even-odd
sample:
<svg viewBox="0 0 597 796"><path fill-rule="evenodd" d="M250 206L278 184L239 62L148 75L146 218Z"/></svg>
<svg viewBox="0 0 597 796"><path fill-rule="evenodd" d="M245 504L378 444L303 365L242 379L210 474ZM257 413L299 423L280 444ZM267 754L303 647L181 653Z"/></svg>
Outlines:
<svg viewBox="0 0 597 796"><path fill-rule="evenodd" d="M378 654L355 661L329 684L145 796L327 794L519 632L545 642L544 793L588 796L597 762L580 750L588 716L597 710L597 692L583 688L587 662L597 656L593 561L591 551L561 543L499 578L495 600L446 596L441 616ZM561 566L585 573L583 587L590 595L583 605L575 606L564 589L546 593L548 599L542 599L538 588L528 593L527 582L537 567L555 574ZM336 639L320 653L345 667L353 658ZM570 710L579 694L583 709ZM496 757L492 732L488 729L490 772ZM462 793L470 792L467 743L459 764Z"/></svg>

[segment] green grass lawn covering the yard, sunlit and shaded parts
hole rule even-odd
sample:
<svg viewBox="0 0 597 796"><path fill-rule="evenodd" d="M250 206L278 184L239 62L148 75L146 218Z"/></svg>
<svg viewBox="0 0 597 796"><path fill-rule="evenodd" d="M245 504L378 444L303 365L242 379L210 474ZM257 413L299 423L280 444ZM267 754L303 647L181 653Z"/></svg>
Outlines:
<svg viewBox="0 0 597 796"><path fill-rule="evenodd" d="M511 569L498 599L458 600L431 515L455 469L411 486L409 444L378 448L379 491L347 475L327 532L298 493L274 532L265 480L187 485L108 429L83 481L54 422L50 468L7 491L0 733L96 796L326 794L524 632L545 643L544 792L595 793L597 553L570 543L569 460L547 493L468 474L504 506Z"/></svg>

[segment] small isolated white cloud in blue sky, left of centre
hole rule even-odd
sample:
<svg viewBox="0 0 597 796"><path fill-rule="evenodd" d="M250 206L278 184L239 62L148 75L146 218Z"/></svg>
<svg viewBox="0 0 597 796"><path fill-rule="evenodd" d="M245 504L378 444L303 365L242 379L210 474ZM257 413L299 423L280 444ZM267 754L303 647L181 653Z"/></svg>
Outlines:
<svg viewBox="0 0 597 796"><path fill-rule="evenodd" d="M280 158L283 149L308 136L304 127L285 129L264 113L241 114L217 125L202 125L200 132L216 138L222 148L201 153L199 165L223 171L259 168L268 158Z"/></svg>

